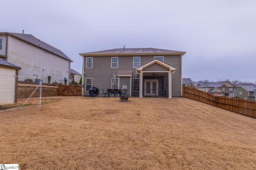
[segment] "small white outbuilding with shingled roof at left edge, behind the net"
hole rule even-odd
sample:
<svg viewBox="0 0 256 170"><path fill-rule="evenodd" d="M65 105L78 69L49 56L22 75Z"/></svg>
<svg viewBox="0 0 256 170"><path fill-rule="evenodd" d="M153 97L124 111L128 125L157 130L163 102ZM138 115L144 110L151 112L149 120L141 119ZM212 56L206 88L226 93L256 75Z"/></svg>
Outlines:
<svg viewBox="0 0 256 170"><path fill-rule="evenodd" d="M17 102L18 72L20 66L0 59L0 104L12 104ZM14 75L14 76L3 76Z"/></svg>

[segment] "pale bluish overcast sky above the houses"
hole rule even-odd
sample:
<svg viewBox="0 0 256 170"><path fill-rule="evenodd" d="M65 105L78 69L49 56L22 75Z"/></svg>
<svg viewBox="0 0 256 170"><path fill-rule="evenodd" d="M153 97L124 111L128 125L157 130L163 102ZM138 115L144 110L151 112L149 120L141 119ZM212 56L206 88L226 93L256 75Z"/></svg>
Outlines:
<svg viewBox="0 0 256 170"><path fill-rule="evenodd" d="M0 32L32 34L65 53L185 51L183 78L256 81L256 0L0 0Z"/></svg>

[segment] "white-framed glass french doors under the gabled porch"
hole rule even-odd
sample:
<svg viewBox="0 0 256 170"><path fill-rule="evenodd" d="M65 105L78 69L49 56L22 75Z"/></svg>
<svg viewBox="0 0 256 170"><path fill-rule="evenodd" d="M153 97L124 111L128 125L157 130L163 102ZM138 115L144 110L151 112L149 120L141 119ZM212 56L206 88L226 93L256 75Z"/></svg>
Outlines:
<svg viewBox="0 0 256 170"><path fill-rule="evenodd" d="M158 96L158 80L144 80L144 96Z"/></svg>

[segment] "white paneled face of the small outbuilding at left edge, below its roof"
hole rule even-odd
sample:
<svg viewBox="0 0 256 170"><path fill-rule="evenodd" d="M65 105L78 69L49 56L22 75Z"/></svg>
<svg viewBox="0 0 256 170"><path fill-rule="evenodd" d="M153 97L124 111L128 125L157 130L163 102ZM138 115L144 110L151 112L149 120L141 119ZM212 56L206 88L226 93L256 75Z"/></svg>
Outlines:
<svg viewBox="0 0 256 170"><path fill-rule="evenodd" d="M16 70L0 67L0 74L15 75ZM14 103L15 77L0 75L0 104Z"/></svg>

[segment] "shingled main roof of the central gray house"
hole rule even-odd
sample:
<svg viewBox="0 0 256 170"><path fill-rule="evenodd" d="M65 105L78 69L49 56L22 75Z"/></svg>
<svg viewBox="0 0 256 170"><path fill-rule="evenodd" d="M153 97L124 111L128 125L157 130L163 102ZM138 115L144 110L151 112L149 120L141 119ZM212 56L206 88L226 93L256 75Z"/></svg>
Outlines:
<svg viewBox="0 0 256 170"><path fill-rule="evenodd" d="M154 48L124 48L124 49L110 49L104 51L95 51L90 53L81 53L81 56L93 56L93 55L184 55L186 52L173 51L165 49L154 49Z"/></svg>

